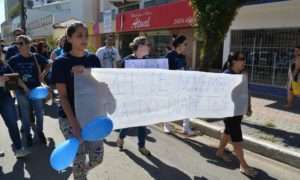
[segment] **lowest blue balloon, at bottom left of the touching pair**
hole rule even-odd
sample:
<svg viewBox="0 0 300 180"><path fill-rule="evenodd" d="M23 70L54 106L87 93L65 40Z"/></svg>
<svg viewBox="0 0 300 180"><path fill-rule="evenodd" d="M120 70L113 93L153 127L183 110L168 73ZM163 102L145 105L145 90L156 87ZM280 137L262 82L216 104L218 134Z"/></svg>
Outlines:
<svg viewBox="0 0 300 180"><path fill-rule="evenodd" d="M78 139L70 138L56 147L50 156L52 168L61 171L69 167L76 157L79 145Z"/></svg>

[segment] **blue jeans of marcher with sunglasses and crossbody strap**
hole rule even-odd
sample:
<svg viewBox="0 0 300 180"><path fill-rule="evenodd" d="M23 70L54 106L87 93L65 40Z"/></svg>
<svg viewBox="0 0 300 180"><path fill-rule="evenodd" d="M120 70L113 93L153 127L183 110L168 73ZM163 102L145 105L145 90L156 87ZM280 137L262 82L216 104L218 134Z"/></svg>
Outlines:
<svg viewBox="0 0 300 180"><path fill-rule="evenodd" d="M44 123L44 102L43 100L31 100L29 97L17 90L16 91L18 105L22 120L22 130L25 137L30 136L30 111L34 111L33 114L36 120L36 132L43 133Z"/></svg>

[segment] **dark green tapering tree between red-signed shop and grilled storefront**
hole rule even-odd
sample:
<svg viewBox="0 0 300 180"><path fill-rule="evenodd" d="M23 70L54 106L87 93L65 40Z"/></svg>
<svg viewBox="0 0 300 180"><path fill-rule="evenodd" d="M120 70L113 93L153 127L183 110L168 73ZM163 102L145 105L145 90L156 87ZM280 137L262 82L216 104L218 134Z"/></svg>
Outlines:
<svg viewBox="0 0 300 180"><path fill-rule="evenodd" d="M200 67L208 71L241 6L241 0L191 0L201 42Z"/></svg>

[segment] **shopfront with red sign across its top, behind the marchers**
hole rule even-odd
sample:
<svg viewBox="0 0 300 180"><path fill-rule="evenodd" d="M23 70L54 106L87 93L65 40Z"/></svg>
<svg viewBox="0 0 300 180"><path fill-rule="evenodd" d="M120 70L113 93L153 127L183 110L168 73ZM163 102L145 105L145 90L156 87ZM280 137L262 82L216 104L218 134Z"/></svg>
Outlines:
<svg viewBox="0 0 300 180"><path fill-rule="evenodd" d="M146 35L152 46L151 55L163 57L167 53L167 47L171 45L172 36L185 35L188 43L188 64L194 67L197 42L194 38L193 22L193 10L187 0L118 14L116 32L121 55L131 53L128 46L134 37Z"/></svg>

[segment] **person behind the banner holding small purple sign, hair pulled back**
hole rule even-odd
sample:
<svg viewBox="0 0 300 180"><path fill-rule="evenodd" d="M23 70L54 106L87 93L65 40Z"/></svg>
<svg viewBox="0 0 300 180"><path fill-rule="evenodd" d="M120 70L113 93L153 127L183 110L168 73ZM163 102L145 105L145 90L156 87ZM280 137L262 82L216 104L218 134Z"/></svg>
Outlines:
<svg viewBox="0 0 300 180"><path fill-rule="evenodd" d="M150 44L147 40L146 37L144 36L139 36L136 37L132 43L130 43L130 48L133 50L133 53L123 59L123 64L125 63L126 60L133 60L133 59L145 59L150 53ZM120 150L123 149L124 145L124 139L127 135L128 128L126 129L121 129L119 138L117 140L117 145L120 148ZM151 155L151 152L146 149L145 144L146 144L146 127L141 126L137 127L138 130L138 147L140 153L142 153L145 156Z"/></svg>

